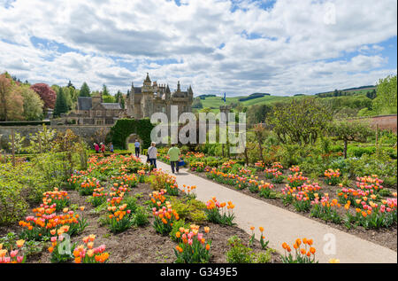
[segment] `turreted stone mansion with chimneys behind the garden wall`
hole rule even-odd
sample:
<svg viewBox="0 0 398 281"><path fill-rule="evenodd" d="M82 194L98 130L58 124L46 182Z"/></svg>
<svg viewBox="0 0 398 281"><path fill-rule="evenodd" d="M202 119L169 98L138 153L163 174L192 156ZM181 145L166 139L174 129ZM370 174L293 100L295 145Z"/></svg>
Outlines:
<svg viewBox="0 0 398 281"><path fill-rule="evenodd" d="M62 114L60 118L51 120L52 124L68 123L79 125L112 125L119 118L150 118L152 113L166 113L170 119L171 106L177 105L179 113L192 112L194 92L191 86L188 90L180 89L170 91L169 85L151 82L149 74L142 87L134 87L126 96L126 108L119 103L103 103L102 95L93 97L79 97L76 109L71 113Z"/></svg>

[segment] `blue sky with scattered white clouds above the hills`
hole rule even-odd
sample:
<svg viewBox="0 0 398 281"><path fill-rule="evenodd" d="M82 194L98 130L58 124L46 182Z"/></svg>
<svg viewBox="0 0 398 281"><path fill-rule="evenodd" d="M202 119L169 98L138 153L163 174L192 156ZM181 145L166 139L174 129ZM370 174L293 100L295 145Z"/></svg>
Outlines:
<svg viewBox="0 0 398 281"><path fill-rule="evenodd" d="M112 93L314 94L397 73L395 0L0 0L0 73Z"/></svg>

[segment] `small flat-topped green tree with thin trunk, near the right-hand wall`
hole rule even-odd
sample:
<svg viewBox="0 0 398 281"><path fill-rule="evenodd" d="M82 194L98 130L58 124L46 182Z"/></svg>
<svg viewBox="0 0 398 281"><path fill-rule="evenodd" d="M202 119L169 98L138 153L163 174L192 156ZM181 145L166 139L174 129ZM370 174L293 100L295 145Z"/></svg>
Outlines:
<svg viewBox="0 0 398 281"><path fill-rule="evenodd" d="M374 135L374 131L366 121L334 121L328 128L328 133L344 142L344 158L347 158L348 142L365 143L367 137Z"/></svg>

